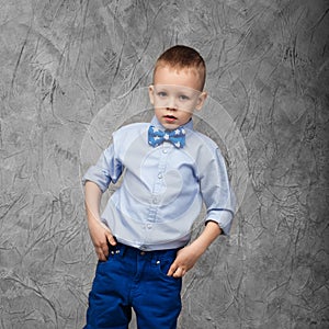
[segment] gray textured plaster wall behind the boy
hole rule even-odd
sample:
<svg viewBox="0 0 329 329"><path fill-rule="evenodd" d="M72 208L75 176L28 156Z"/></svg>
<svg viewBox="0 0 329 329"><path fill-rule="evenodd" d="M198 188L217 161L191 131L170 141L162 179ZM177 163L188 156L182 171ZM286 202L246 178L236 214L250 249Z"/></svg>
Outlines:
<svg viewBox="0 0 329 329"><path fill-rule="evenodd" d="M219 135L240 207L230 239L186 275L180 328L329 328L328 10L1 0L0 327L82 327L97 259L80 172L98 140L134 120L114 100L182 43L203 54L234 126L226 139L216 110L198 125Z"/></svg>

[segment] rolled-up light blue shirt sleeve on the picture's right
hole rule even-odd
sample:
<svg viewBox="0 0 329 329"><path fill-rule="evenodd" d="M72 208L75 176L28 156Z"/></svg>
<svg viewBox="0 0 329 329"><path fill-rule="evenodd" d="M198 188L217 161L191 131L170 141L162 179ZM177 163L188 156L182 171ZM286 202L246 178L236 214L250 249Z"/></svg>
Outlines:
<svg viewBox="0 0 329 329"><path fill-rule="evenodd" d="M236 197L230 188L224 158L218 149L203 169L201 191L207 214L206 222L218 223L225 235L230 231Z"/></svg>

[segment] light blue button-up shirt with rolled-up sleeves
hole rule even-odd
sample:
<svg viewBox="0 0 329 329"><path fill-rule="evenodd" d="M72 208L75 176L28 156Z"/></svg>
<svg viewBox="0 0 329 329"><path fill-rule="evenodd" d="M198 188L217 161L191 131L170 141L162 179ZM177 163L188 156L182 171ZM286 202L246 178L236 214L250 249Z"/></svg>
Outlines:
<svg viewBox="0 0 329 329"><path fill-rule="evenodd" d="M163 129L156 117L151 124ZM169 141L154 148L147 139L149 125L135 123L116 131L112 145L82 179L105 192L124 174L102 220L122 243L141 250L180 248L190 241L204 202L205 222L218 223L227 235L235 197L217 145L194 131L191 120L183 126L184 148Z"/></svg>

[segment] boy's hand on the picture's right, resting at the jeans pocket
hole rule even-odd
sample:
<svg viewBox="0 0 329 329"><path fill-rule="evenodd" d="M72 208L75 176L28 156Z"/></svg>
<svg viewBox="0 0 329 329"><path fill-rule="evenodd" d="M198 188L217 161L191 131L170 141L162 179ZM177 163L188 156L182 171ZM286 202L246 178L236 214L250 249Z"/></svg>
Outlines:
<svg viewBox="0 0 329 329"><path fill-rule="evenodd" d="M167 275L173 277L182 277L190 271L202 253L196 249L196 246L190 245L179 250L174 262L171 264Z"/></svg>

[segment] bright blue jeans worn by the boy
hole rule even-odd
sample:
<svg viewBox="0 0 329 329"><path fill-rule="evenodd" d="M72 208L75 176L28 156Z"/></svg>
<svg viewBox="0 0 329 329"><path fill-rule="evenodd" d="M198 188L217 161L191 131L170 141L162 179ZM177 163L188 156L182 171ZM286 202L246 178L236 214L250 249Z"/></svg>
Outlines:
<svg viewBox="0 0 329 329"><path fill-rule="evenodd" d="M177 251L111 247L109 260L97 266L84 328L127 329L133 307L138 328L175 329L182 280L167 272Z"/></svg>

